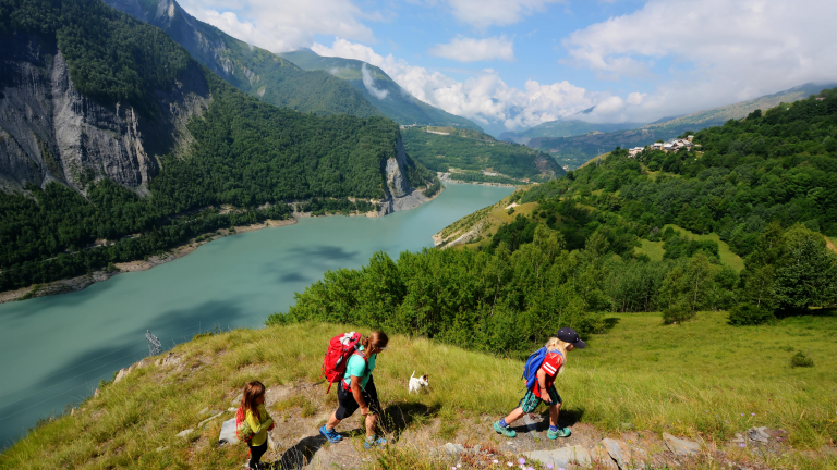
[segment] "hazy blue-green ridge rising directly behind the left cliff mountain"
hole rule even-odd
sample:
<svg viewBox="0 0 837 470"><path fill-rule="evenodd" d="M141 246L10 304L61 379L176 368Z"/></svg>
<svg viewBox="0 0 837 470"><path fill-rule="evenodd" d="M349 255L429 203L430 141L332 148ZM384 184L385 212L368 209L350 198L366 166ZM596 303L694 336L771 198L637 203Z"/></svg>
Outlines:
<svg viewBox="0 0 837 470"><path fill-rule="evenodd" d="M354 87L323 71L306 72L196 20L174 0L107 0L161 28L203 65L240 90L270 104L320 115L384 115Z"/></svg>

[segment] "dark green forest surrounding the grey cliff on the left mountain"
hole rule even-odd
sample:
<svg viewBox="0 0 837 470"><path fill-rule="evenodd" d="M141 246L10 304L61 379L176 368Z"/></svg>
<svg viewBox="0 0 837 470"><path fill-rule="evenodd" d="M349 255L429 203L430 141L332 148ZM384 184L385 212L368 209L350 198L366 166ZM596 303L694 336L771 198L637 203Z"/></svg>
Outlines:
<svg viewBox="0 0 837 470"><path fill-rule="evenodd" d="M0 35L14 32L57 40L80 91L106 106L130 102L151 120L155 90L199 67L158 28L98 0L0 0ZM107 180L89 182L84 194L57 182L0 194L0 290L142 259L221 227L283 219L288 200L310 199L301 208L317 214L347 213L373 210L367 200L386 196L383 168L396 157L396 123L279 109L203 71L210 106L189 123L185 158L162 159L149 197ZM409 156L404 170L414 187L438 190L435 175ZM221 214L222 205L235 209ZM116 244L93 247L96 239Z"/></svg>

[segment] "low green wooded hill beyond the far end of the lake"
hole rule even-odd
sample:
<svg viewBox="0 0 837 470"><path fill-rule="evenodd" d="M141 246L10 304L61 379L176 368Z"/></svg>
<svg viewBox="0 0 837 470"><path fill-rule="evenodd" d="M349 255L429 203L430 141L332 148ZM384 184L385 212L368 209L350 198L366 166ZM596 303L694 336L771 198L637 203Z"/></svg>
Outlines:
<svg viewBox="0 0 837 470"><path fill-rule="evenodd" d="M433 171L449 172L451 168L469 171L462 178L458 174L451 175L454 180L512 183L509 177L548 181L563 174L563 170L548 154L526 146L496 140L472 129L429 128L446 134L427 131L413 127L403 132L408 153ZM483 170L492 170L505 177L482 175Z"/></svg>

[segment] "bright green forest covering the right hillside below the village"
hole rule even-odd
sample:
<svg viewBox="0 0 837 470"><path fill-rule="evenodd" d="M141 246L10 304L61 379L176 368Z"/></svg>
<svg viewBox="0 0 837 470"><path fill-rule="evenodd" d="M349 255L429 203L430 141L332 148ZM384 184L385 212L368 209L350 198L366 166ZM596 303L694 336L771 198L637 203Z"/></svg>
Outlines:
<svg viewBox="0 0 837 470"><path fill-rule="evenodd" d="M345 322L524 355L556 326L606 329L606 311L675 323L729 310L731 324L749 325L835 307L835 139L837 92L825 90L702 131L698 150L617 148L515 193L534 209L487 238L328 272L268 323ZM719 243L743 270L723 262Z"/></svg>

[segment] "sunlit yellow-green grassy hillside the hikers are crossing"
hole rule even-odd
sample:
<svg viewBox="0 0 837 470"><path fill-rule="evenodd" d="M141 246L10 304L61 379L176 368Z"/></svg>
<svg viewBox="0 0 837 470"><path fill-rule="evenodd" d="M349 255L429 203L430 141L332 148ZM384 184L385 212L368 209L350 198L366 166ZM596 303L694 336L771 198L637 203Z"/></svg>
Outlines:
<svg viewBox="0 0 837 470"><path fill-rule="evenodd" d="M720 312L701 312L696 321L672 326L660 325L654 314L608 318L614 326L587 337L587 349L571 352L557 382L565 423L578 433L573 438L648 440L669 432L723 453L681 461L687 469L715 468L707 466L713 460L750 468L837 468L827 452L837 440L832 391L837 347L830 341L837 318L796 318L744 331L726 325ZM72 416L44 422L0 455L0 468L234 468L245 456L243 445L214 444L221 421L233 413L197 424L211 416L203 410L228 409L250 380L270 388L268 410L279 425L272 431L277 447L266 460L277 460L315 436L336 407L335 391L324 395L324 385L311 384L322 380L328 339L349 330L356 329L300 324L204 334L171 356L147 360L118 383L102 384L101 394ZM797 350L809 354L814 367L791 368ZM407 393L413 370L429 373L428 393ZM390 449L363 461L350 459L369 456L352 442L327 445L308 455L318 459L312 466L335 459L352 468L414 468L416 461L405 456L428 466L429 448L446 442L502 448L498 456L510 460L514 452L502 445L507 440L488 426L519 400L521 370L517 360L392 335L375 370ZM630 423L629 431L623 423ZM786 431L787 445L761 454L728 442L756 425ZM351 419L341 430L356 426ZM194 431L177 436L186 429ZM464 460L463 468L483 467Z"/></svg>

